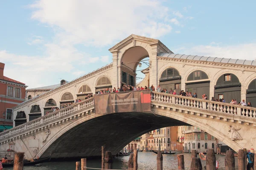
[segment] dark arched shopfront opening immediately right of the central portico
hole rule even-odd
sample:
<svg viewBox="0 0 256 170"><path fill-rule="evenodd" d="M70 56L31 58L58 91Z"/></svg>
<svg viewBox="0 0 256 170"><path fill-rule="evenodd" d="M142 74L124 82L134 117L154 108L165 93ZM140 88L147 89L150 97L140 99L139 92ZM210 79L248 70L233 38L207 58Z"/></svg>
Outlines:
<svg viewBox="0 0 256 170"><path fill-rule="evenodd" d="M162 89L166 89L168 92L175 90L176 94L179 94L181 89L181 76L177 69L172 67L165 69L159 81L159 85Z"/></svg>

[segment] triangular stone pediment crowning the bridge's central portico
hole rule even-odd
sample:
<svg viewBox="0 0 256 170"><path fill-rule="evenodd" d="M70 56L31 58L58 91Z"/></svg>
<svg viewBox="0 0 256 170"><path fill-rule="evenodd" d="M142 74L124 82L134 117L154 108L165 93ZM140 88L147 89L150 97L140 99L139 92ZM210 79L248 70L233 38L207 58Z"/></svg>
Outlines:
<svg viewBox="0 0 256 170"><path fill-rule="evenodd" d="M110 52L117 51L117 50L121 49L122 47L126 46L127 44L131 43L134 40L144 42L144 43L148 43L150 45L159 44L160 46L165 48L166 52L172 53L172 51L169 50L163 43L161 43L160 40L153 39L153 38L148 38L148 37L142 37L142 36L134 35L134 34L130 35L129 37L127 37L124 40L117 43L115 46L113 46L111 49L109 49L109 51Z"/></svg>

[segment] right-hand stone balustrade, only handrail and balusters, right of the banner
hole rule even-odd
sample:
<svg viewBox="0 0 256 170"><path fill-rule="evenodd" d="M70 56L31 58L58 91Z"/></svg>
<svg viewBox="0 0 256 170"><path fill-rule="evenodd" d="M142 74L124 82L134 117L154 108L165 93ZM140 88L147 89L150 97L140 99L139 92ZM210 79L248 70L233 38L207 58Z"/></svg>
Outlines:
<svg viewBox="0 0 256 170"><path fill-rule="evenodd" d="M151 92L151 100L160 101L163 103L178 104L187 107L207 109L215 112L223 112L233 114L235 116L246 116L247 118L256 118L255 107L241 106L238 104L209 101L199 98L171 95L162 92Z"/></svg>

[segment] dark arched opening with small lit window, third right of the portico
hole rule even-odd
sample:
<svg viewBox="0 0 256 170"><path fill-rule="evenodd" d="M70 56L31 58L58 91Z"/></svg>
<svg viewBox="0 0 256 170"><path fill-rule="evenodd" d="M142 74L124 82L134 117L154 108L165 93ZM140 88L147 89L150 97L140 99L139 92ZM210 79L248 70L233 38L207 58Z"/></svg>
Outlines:
<svg viewBox="0 0 256 170"><path fill-rule="evenodd" d="M241 83L236 75L226 73L218 78L214 86L214 98L224 98L226 103L230 103L232 99L236 99L237 103L241 101Z"/></svg>

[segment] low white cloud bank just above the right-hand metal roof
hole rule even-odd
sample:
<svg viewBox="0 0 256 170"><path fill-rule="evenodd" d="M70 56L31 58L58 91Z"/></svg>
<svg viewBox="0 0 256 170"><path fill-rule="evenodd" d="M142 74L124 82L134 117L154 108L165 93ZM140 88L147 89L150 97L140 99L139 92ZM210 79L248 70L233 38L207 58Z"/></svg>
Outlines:
<svg viewBox="0 0 256 170"><path fill-rule="evenodd" d="M219 43L220 44L220 43ZM256 43L239 44L233 46L199 45L188 48L177 49L175 53L186 55L199 55L218 58L233 58L241 60L256 59Z"/></svg>

